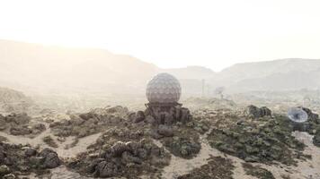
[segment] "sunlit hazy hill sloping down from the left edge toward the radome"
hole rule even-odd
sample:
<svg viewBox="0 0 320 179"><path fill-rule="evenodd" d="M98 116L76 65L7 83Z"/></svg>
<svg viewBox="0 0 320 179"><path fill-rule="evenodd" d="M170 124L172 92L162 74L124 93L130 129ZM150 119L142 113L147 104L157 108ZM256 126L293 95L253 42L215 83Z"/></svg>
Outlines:
<svg viewBox="0 0 320 179"><path fill-rule="evenodd" d="M103 49L0 40L0 81L13 86L14 81L23 90L126 92L158 71L154 64Z"/></svg>

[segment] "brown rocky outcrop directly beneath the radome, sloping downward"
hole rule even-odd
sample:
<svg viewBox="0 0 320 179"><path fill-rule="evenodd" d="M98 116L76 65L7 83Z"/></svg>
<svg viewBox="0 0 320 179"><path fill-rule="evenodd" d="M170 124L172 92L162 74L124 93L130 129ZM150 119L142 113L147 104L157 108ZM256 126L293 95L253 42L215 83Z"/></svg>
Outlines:
<svg viewBox="0 0 320 179"><path fill-rule="evenodd" d="M185 107L148 107L144 113L151 124L151 136L160 140L174 156L192 158L200 151L200 123L192 120ZM199 125L198 125L199 124Z"/></svg>

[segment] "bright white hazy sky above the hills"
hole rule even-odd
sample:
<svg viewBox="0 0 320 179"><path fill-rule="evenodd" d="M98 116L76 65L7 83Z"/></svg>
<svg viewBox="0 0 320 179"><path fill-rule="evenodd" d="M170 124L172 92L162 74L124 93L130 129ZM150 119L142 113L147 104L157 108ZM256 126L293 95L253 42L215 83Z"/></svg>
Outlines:
<svg viewBox="0 0 320 179"><path fill-rule="evenodd" d="M161 67L320 58L319 0L0 1L0 38L101 47Z"/></svg>

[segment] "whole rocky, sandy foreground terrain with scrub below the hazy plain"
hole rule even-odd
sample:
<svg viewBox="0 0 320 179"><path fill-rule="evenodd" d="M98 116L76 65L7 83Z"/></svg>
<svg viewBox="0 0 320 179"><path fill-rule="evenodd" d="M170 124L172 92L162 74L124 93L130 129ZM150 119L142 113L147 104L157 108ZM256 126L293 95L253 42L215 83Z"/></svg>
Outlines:
<svg viewBox="0 0 320 179"><path fill-rule="evenodd" d="M254 106L1 115L0 176L320 178L320 119L303 109L303 127Z"/></svg>

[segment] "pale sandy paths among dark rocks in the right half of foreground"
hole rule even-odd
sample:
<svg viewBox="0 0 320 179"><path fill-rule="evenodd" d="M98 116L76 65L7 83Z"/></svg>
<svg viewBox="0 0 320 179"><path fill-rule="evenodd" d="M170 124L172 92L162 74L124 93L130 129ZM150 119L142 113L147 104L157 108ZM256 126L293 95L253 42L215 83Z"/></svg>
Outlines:
<svg viewBox="0 0 320 179"><path fill-rule="evenodd" d="M272 175L275 178L283 178L283 176L289 176L290 179L320 179L320 149L317 148L312 143L313 136L309 135L307 132L295 132L293 133L299 141L303 141L307 148L304 153L312 155L311 160L300 161L298 166L268 166L264 164L253 163L253 166L262 166L265 169L271 171ZM220 156L223 158L230 158L234 162L236 169L233 171L233 177L235 179L255 179L251 175L246 175L242 163L244 160L229 156L224 154L218 149L212 149L209 146L208 141L205 140L206 135L200 137L201 140L201 150L196 158L190 160L183 158L176 158L172 156L170 166L164 167L163 177L164 178L177 178L178 175L188 174L193 168L200 167L207 164L207 159L210 155ZM157 142L158 145L161 145L160 142Z"/></svg>

